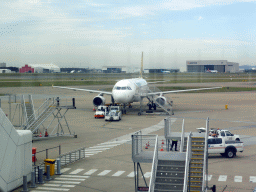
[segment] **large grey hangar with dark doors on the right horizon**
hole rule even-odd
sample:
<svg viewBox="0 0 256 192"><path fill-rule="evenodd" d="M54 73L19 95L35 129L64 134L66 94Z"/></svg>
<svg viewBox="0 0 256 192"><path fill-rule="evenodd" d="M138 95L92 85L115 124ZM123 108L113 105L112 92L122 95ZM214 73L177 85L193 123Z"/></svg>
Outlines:
<svg viewBox="0 0 256 192"><path fill-rule="evenodd" d="M187 72L239 72L239 63L228 62L227 60L188 60L186 64Z"/></svg>

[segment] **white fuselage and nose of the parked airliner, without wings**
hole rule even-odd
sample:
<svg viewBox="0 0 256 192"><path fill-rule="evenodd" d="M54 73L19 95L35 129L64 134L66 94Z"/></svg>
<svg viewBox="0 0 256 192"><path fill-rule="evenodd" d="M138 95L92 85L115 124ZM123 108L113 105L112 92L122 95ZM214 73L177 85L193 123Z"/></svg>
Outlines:
<svg viewBox="0 0 256 192"><path fill-rule="evenodd" d="M118 81L112 90L112 96L116 103L139 102L144 93L150 92L145 79L134 78Z"/></svg>

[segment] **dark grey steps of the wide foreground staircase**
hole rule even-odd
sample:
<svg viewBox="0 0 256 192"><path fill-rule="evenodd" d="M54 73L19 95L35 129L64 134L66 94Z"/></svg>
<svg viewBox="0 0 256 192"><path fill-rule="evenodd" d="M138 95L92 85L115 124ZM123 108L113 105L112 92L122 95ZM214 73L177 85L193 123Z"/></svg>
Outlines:
<svg viewBox="0 0 256 192"><path fill-rule="evenodd" d="M182 192L185 160L158 160L155 192Z"/></svg>

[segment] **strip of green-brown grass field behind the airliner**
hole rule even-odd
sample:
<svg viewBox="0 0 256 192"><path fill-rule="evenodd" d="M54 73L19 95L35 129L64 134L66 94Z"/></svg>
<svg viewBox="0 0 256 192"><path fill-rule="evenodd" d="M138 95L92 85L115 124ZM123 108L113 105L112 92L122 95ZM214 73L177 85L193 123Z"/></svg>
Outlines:
<svg viewBox="0 0 256 192"><path fill-rule="evenodd" d="M88 86L114 85L118 80L136 78L139 74L87 74L87 73L44 73L44 74L0 74L0 87L36 87L36 86ZM207 74L207 73L171 73L144 74L148 82L162 81L158 88L165 90L193 89L198 87L171 87L161 84L175 83L213 83L213 82L254 82L256 74ZM224 87L201 92L256 91L256 88Z"/></svg>

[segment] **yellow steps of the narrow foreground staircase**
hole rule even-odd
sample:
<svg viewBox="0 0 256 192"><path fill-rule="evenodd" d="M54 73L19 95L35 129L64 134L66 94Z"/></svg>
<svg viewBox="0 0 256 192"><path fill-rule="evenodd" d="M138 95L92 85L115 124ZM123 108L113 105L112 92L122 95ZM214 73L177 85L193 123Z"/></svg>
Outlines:
<svg viewBox="0 0 256 192"><path fill-rule="evenodd" d="M184 150L186 151L186 138L184 138ZM190 161L190 172L188 188L190 192L201 192L203 184L203 164L204 164L204 137L192 137L192 157Z"/></svg>

